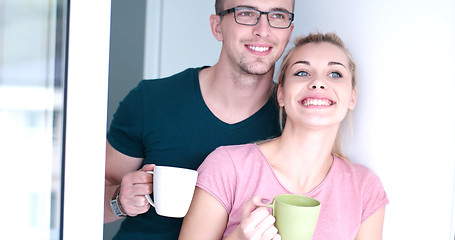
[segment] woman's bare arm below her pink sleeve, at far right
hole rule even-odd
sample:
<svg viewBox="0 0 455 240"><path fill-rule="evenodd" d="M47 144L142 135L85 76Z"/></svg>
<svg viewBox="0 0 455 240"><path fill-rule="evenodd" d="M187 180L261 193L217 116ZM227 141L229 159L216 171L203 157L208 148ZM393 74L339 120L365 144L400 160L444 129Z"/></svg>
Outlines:
<svg viewBox="0 0 455 240"><path fill-rule="evenodd" d="M384 214L385 207L382 207L368 217L367 220L360 225L355 240L381 240Z"/></svg>

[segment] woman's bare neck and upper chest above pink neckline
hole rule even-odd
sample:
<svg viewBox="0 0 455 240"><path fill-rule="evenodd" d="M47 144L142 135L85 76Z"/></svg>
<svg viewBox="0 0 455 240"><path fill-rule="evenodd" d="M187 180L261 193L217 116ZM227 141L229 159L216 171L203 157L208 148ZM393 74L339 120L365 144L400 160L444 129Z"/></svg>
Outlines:
<svg viewBox="0 0 455 240"><path fill-rule="evenodd" d="M280 183L303 194L317 187L333 163L332 147L338 128L297 130L285 128L273 141L260 144Z"/></svg>

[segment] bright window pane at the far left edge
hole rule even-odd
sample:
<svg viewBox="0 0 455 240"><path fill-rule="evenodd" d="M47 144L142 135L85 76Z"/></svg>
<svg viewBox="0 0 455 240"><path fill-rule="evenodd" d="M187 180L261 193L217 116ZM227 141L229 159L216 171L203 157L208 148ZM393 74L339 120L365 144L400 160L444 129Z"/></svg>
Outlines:
<svg viewBox="0 0 455 240"><path fill-rule="evenodd" d="M59 239L66 2L0 1L3 236Z"/></svg>

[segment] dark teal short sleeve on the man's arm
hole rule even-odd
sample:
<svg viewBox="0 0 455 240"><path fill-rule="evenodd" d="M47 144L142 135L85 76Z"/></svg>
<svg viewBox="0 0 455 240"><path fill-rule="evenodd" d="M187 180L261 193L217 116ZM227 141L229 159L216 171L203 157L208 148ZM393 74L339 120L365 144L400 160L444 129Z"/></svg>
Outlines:
<svg viewBox="0 0 455 240"><path fill-rule="evenodd" d="M117 151L131 156L144 157L142 82L120 102L112 119L107 140Z"/></svg>

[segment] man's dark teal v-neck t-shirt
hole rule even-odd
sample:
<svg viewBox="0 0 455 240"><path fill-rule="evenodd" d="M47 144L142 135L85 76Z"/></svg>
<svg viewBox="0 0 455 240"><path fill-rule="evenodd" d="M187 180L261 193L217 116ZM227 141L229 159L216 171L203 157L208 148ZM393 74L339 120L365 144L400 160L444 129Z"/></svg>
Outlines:
<svg viewBox="0 0 455 240"><path fill-rule="evenodd" d="M123 154L144 158L143 164L197 169L216 147L280 134L274 98L241 122L219 120L202 98L200 69L139 83L114 114L109 143ZM182 218L159 216L151 207L145 214L125 219L114 239L173 240L178 238L181 224Z"/></svg>

